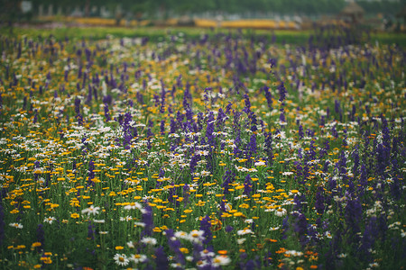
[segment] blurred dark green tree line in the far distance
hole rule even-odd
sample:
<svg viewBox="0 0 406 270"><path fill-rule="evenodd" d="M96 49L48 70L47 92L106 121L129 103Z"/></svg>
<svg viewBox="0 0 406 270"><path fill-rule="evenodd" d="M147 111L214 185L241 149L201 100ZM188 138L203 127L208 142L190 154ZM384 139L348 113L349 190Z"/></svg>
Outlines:
<svg viewBox="0 0 406 270"><path fill-rule="evenodd" d="M63 8L81 7L89 15L91 6L106 6L115 10L120 4L125 13L133 14L199 14L203 12L246 14L337 14L346 6L345 0L31 0L34 12L38 6L61 6ZM3 14L15 13L15 6L21 0L0 0ZM358 0L366 14L396 14L406 4L406 0Z"/></svg>

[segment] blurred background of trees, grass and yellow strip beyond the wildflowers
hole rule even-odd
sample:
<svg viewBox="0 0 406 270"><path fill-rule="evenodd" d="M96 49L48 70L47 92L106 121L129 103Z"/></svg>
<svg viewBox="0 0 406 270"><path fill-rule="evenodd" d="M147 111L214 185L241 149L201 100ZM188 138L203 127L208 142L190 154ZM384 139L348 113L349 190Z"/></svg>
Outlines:
<svg viewBox="0 0 406 270"><path fill-rule="evenodd" d="M306 30L315 24L404 31L406 0L0 0L2 25Z"/></svg>

